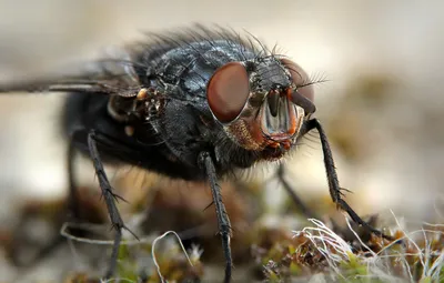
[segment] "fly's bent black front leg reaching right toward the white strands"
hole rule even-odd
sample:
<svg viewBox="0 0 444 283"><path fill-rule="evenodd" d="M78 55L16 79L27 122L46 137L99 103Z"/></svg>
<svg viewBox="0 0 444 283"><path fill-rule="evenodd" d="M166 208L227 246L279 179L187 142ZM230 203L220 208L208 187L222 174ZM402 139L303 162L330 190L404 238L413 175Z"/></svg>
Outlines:
<svg viewBox="0 0 444 283"><path fill-rule="evenodd" d="M357 225L365 228L367 231L374 233L377 236L382 236L387 240L393 240L392 236L385 235L381 231L379 231L375 228L373 228L372 225L370 225L367 222L363 221L356 214L356 212L354 212L354 210L342 199L342 196L344 194L341 192L341 186L340 186L337 174L336 174L336 168L335 168L334 161L333 161L332 150L330 149L330 144L329 144L326 134L325 134L324 129L322 128L320 121L317 119L311 119L311 120L306 121L304 124L304 128L302 129L301 134L304 135L305 133L310 132L313 129L317 130L320 138L321 138L322 152L324 155L324 166L325 166L326 178L327 178L327 182L329 182L330 195L331 195L333 202L340 209L345 211ZM296 204L302 203L297 196L295 199L295 202L296 202ZM304 205L301 208L304 208ZM307 211L306 208L305 208L305 211Z"/></svg>

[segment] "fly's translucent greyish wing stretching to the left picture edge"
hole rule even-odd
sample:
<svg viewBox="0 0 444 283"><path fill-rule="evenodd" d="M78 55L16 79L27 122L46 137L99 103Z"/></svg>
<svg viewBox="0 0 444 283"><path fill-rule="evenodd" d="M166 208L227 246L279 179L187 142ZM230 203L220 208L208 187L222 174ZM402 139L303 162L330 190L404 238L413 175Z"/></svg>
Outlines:
<svg viewBox="0 0 444 283"><path fill-rule="evenodd" d="M65 70L43 78L0 83L0 93L58 91L135 97L141 89L137 63L123 49L108 49L103 59Z"/></svg>

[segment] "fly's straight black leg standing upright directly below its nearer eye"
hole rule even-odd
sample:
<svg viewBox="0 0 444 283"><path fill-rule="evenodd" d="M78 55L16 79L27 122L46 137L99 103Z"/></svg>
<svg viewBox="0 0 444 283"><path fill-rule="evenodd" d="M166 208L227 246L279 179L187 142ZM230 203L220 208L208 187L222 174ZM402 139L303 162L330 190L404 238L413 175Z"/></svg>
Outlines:
<svg viewBox="0 0 444 283"><path fill-rule="evenodd" d="M203 152L199 156L201 165L205 170L206 178L210 182L211 192L213 195L213 203L215 206L215 213L219 224L219 233L222 239L222 249L225 256L225 276L223 282L229 283L231 281L231 271L233 269L233 261L231 257L230 237L231 237L231 224L229 215L226 214L225 205L222 202L221 186L218 184L218 175L210 153Z"/></svg>

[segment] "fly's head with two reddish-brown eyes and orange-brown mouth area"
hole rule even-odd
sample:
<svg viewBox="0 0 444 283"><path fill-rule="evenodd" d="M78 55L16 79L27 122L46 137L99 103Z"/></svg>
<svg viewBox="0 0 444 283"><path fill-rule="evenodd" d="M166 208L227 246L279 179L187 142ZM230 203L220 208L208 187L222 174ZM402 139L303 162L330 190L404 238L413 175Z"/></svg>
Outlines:
<svg viewBox="0 0 444 283"><path fill-rule="evenodd" d="M265 160L280 159L295 144L315 111L313 97L302 68L276 57L226 63L206 85L210 110L225 133Z"/></svg>

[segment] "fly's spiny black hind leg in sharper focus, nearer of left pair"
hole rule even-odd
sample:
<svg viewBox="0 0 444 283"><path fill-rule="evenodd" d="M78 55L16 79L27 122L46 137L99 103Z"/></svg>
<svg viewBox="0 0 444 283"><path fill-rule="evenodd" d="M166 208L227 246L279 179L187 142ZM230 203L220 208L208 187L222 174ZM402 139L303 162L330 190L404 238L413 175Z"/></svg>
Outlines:
<svg viewBox="0 0 444 283"><path fill-rule="evenodd" d="M112 228L115 230L114 244L112 246L111 259L108 265L108 271L105 277L109 279L113 275L115 271L117 260L119 246L122 241L122 230L128 230L135 239L138 239L123 223L122 218L120 216L119 210L115 205L115 201L119 199L122 200L119 195L117 195L108 181L107 174L103 169L102 161L100 160L99 150L97 148L97 140L100 138L100 133L95 133L95 131L91 130L88 134L88 149L90 152L90 156L92 159L97 178L99 179L100 189L102 190L102 196L107 204L108 213L110 215Z"/></svg>

